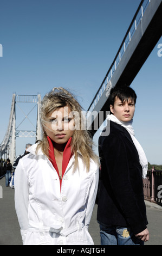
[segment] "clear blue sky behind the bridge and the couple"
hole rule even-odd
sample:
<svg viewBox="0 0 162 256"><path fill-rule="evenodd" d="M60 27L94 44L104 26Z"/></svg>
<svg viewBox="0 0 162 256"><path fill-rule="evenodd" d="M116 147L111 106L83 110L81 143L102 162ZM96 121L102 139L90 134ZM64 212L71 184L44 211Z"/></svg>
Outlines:
<svg viewBox="0 0 162 256"><path fill-rule="evenodd" d="M0 143L7 130L13 93L40 93L43 97L53 87L62 86L88 109L139 3L140 0L1 1ZM159 44L162 39L131 84L138 95L133 120L135 136L152 164L162 164ZM36 121L35 113L31 120ZM95 142L98 136L96 133ZM26 142L34 143L34 139L17 138L17 155L23 153Z"/></svg>

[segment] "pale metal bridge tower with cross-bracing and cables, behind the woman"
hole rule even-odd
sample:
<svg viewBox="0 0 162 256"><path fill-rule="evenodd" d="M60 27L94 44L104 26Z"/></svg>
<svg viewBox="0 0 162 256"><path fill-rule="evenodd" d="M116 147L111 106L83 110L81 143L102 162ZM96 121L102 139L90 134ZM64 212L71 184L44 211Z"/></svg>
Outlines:
<svg viewBox="0 0 162 256"><path fill-rule="evenodd" d="M22 107L20 107L21 103L30 103L32 106L31 110L29 111L29 106L26 104L26 111L28 111L28 114L25 114ZM17 113L17 107L21 110L21 112L24 114L23 120L20 121L20 123L16 124L16 113ZM11 111L10 111L10 118L9 118L9 124L7 132L5 133L4 139L2 143L0 144L0 177L4 165L4 161L9 157L11 163L14 162L16 157L16 138L17 137L34 137L37 141L38 139L42 138L42 129L41 129L41 123L40 123L40 107L41 107L41 95L12 95L12 103L11 103ZM36 125L34 125L31 120L29 119L28 115L34 111L34 109L37 109L36 114ZM20 129L20 126L22 123L27 120L28 123L30 123L30 126L33 125L34 129L30 129L29 124L26 125L27 129Z"/></svg>

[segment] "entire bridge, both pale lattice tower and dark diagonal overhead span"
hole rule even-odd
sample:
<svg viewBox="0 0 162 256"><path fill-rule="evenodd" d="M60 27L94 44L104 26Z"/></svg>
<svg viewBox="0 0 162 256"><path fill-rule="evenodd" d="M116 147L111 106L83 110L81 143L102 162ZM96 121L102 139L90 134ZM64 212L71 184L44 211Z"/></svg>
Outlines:
<svg viewBox="0 0 162 256"><path fill-rule="evenodd" d="M127 29L126 35L121 42L118 52L110 66L101 86L96 92L92 103L86 113L87 129L94 136L95 123L97 127L106 119L109 111L108 96L112 87L126 84L130 86L141 66L150 55L154 46L161 37L162 32L162 0L142 0ZM36 130L21 131L16 127L16 103L35 103L37 107ZM16 137L35 137L41 139L41 124L39 110L41 106L41 95L12 95L11 112L8 129L0 145L1 170L3 162L7 157L11 162L15 159ZM100 118L100 113L103 116ZM25 115L25 119L28 115ZM102 119L102 120L100 120ZM0 173L1 176L1 173Z"/></svg>

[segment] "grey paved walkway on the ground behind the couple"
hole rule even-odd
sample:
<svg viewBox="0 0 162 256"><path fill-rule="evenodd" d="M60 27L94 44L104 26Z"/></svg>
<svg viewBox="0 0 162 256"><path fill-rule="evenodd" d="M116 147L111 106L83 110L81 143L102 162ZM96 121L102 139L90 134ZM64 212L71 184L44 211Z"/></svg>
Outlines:
<svg viewBox="0 0 162 256"><path fill-rule="evenodd" d="M14 206L14 189L5 187L5 178L0 180L0 186L3 190L3 198L0 197L0 245L22 245ZM162 245L162 207L147 201L146 207L150 240L145 245ZM94 245L100 245L100 230L96 222L96 210L97 205L94 207L89 233L92 235Z"/></svg>

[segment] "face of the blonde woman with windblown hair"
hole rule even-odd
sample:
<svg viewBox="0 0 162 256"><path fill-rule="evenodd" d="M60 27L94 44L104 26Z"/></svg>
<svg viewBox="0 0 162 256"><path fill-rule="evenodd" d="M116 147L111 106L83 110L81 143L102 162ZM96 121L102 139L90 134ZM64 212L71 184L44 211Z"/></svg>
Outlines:
<svg viewBox="0 0 162 256"><path fill-rule="evenodd" d="M74 126L72 110L66 106L57 108L49 115L45 131L55 143L64 144L73 136Z"/></svg>

